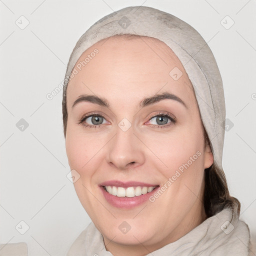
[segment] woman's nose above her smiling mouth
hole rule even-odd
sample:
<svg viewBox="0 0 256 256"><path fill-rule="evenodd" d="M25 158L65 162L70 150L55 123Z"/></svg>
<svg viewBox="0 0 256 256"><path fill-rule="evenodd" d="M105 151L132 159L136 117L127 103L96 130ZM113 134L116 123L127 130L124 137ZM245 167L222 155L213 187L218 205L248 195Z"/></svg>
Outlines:
<svg viewBox="0 0 256 256"><path fill-rule="evenodd" d="M126 131L117 127L115 136L108 143L107 162L119 170L142 165L145 155L143 143L138 137L133 133L132 126Z"/></svg>

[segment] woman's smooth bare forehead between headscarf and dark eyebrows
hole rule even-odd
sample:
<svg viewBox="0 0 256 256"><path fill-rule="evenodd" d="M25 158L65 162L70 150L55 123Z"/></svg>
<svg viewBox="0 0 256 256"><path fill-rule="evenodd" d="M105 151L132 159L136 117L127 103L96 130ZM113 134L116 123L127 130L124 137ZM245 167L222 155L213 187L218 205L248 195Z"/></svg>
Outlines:
<svg viewBox="0 0 256 256"><path fill-rule="evenodd" d="M180 60L164 42L152 37L112 36L98 41L82 53L72 72L67 104L83 93L129 101L163 90L195 99Z"/></svg>

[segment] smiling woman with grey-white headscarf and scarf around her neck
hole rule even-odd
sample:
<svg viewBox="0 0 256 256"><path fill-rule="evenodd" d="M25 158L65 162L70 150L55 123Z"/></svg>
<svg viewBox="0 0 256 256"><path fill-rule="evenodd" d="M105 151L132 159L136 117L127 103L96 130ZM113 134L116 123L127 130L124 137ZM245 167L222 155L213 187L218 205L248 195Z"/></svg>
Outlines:
<svg viewBox="0 0 256 256"><path fill-rule="evenodd" d="M248 255L222 170L225 104L207 43L177 17L126 7L76 43L66 153L92 222L67 255Z"/></svg>

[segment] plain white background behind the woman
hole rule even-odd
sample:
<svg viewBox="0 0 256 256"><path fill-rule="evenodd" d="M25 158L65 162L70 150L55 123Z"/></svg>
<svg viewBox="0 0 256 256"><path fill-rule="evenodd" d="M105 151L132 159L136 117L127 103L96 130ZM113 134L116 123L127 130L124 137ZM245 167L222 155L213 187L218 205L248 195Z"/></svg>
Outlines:
<svg viewBox="0 0 256 256"><path fill-rule="evenodd" d="M62 91L51 100L46 94L62 82L80 35L129 5L169 12L208 42L231 124L223 168L241 202L240 219L256 232L255 0L0 0L0 243L25 241L29 256L65 255L90 222L66 177ZM229 29L221 24L231 24L227 15ZM15 228L20 221L29 226L24 234Z"/></svg>

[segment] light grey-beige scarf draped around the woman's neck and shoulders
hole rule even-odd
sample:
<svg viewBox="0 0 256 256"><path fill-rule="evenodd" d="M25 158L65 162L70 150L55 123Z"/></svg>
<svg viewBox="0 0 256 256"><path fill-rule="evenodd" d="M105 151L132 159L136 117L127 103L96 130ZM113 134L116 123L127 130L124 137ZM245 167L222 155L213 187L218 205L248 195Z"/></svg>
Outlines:
<svg viewBox="0 0 256 256"><path fill-rule="evenodd" d="M233 213L234 212L234 213ZM146 256L241 256L249 255L248 225L239 220L236 209L224 208L190 232ZM103 236L91 222L71 245L67 256L112 256Z"/></svg>

